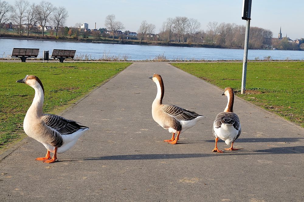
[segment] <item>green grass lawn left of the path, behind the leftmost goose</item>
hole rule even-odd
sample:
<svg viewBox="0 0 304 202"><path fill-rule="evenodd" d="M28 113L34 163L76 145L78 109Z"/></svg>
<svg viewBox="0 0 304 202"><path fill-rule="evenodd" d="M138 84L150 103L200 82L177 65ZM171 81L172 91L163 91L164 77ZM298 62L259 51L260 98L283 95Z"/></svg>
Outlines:
<svg viewBox="0 0 304 202"><path fill-rule="evenodd" d="M23 119L35 90L16 83L36 75L43 83L44 113L59 113L131 63L0 63L0 150L25 137ZM1 151L0 151L1 152Z"/></svg>

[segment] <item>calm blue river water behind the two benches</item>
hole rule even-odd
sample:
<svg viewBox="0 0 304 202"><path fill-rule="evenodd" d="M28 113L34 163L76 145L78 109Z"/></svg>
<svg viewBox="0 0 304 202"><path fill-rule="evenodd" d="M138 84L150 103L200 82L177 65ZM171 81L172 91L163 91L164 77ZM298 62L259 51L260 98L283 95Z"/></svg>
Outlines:
<svg viewBox="0 0 304 202"><path fill-rule="evenodd" d="M0 58L10 57L13 48L40 48L38 58L43 57L43 50L76 50L80 59L98 60L101 58L119 58L127 60L153 60L164 56L167 60L243 60L243 49L197 48L173 46L147 46L126 44L96 44L78 42L57 42L40 40L0 39ZM304 60L304 51L297 50L248 50L248 60L271 56L273 60Z"/></svg>

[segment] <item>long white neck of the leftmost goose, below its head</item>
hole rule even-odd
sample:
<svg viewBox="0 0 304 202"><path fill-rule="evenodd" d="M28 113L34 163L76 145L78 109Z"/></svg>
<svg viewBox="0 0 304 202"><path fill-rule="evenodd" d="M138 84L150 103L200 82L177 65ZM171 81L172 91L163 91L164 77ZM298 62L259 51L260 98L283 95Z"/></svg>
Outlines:
<svg viewBox="0 0 304 202"><path fill-rule="evenodd" d="M35 89L35 97L27 113L30 113L32 116L40 117L43 114L42 106L44 101L44 93L40 85L35 86L34 89Z"/></svg>

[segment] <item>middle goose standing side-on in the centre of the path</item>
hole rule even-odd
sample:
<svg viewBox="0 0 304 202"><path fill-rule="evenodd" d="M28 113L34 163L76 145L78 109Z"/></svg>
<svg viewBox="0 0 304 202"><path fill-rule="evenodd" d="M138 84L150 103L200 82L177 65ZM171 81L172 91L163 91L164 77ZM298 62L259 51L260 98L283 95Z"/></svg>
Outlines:
<svg viewBox="0 0 304 202"><path fill-rule="evenodd" d="M164 140L164 142L175 145L179 140L180 133L193 127L196 122L205 118L205 116L175 105L164 105L162 103L164 83L161 75L153 74L153 76L149 78L152 79L157 86L157 94L152 103L152 117L157 124L172 133L172 138L170 140ZM175 133L177 133L176 138Z"/></svg>

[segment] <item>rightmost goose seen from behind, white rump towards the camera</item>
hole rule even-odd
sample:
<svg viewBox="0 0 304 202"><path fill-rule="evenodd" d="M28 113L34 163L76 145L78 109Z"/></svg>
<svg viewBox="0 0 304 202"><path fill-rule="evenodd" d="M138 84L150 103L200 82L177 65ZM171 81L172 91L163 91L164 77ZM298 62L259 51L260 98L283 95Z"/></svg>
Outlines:
<svg viewBox="0 0 304 202"><path fill-rule="evenodd" d="M234 92L232 88L225 88L223 96L227 96L228 103L225 110L218 115L213 123L213 135L215 138L215 148L212 152L220 152L223 151L217 148L217 141L221 138L227 145L231 144L230 148L225 148L225 150L238 150L233 148L233 142L240 136L241 134L241 124L239 117L236 113L233 113L233 101L234 101Z"/></svg>

